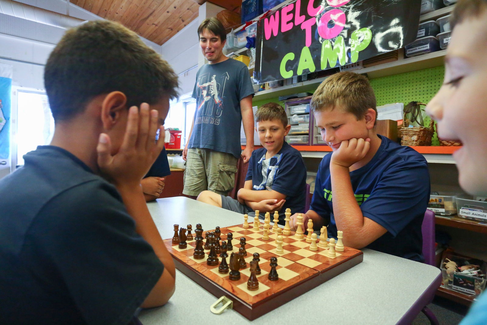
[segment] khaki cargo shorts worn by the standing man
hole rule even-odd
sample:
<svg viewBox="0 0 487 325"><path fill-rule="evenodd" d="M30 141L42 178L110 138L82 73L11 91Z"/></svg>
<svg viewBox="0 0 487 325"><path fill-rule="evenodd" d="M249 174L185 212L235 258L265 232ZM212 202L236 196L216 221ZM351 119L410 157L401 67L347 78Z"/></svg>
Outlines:
<svg viewBox="0 0 487 325"><path fill-rule="evenodd" d="M206 148L187 150L183 194L198 196L202 191L226 195L235 185L237 162L233 154Z"/></svg>

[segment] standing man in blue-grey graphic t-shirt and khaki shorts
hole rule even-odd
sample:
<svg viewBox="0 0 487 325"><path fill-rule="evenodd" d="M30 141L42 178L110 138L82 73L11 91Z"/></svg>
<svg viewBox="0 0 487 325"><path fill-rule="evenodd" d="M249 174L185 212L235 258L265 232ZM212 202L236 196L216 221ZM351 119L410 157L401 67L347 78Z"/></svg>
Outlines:
<svg viewBox="0 0 487 325"><path fill-rule="evenodd" d="M203 20L198 36L208 64L196 75L196 112L183 150L187 161L183 193L195 199L206 190L223 195L231 191L239 157L248 163L254 150L254 89L248 68L223 55L225 27L216 18ZM244 152L240 147L241 121Z"/></svg>

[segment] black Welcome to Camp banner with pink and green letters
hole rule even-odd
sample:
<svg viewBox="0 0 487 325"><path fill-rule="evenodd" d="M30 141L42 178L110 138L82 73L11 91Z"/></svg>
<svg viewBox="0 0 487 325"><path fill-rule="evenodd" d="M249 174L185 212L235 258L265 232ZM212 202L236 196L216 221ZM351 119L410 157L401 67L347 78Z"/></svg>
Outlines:
<svg viewBox="0 0 487 325"><path fill-rule="evenodd" d="M397 50L417 35L421 0L296 0L258 22L254 78L282 80Z"/></svg>

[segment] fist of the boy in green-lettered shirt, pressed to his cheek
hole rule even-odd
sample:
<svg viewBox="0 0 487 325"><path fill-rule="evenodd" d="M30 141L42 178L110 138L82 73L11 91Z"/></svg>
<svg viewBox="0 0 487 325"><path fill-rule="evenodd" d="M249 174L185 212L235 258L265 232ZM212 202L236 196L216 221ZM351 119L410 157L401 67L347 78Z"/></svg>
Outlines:
<svg viewBox="0 0 487 325"><path fill-rule="evenodd" d="M349 168L362 160L370 149L370 138L343 140L340 147L332 153L331 163Z"/></svg>

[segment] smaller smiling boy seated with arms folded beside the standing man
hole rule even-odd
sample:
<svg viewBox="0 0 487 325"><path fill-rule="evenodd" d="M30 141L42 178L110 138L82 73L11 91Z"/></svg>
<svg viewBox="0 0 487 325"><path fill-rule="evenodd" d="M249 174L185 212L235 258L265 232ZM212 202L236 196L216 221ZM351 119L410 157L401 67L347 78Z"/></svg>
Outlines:
<svg viewBox="0 0 487 325"><path fill-rule="evenodd" d="M286 112L281 105L262 105L255 119L263 148L255 150L250 157L244 188L237 193L238 200L203 191L198 201L249 216L255 216L254 211L259 210L262 219L265 212L277 210L280 223L284 224L286 208L304 210L306 168L301 153L284 141L291 126L287 124Z"/></svg>

